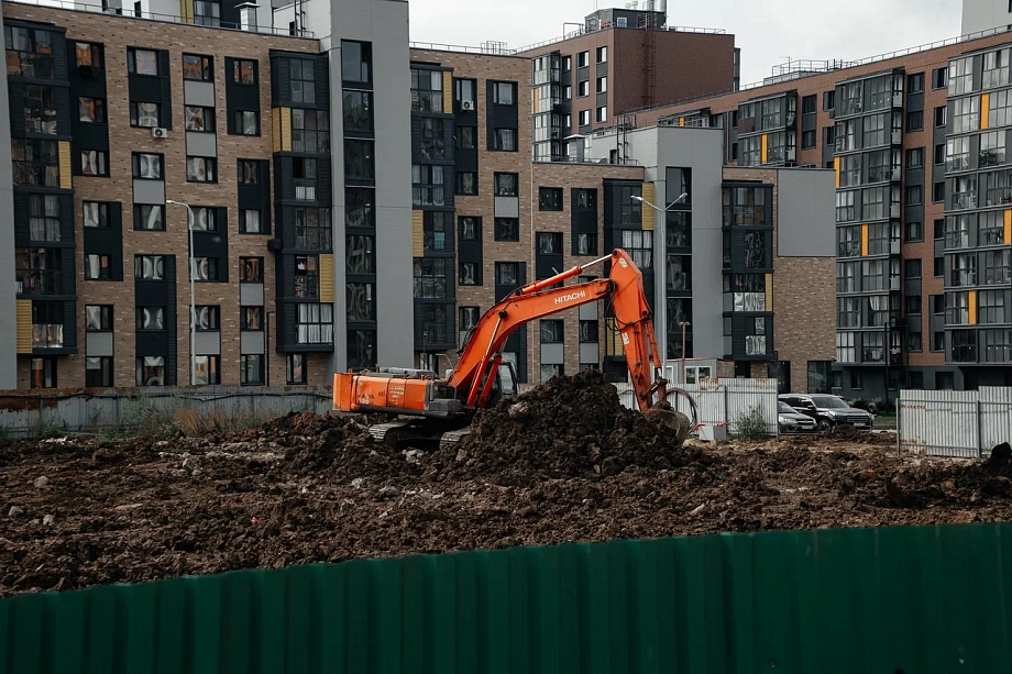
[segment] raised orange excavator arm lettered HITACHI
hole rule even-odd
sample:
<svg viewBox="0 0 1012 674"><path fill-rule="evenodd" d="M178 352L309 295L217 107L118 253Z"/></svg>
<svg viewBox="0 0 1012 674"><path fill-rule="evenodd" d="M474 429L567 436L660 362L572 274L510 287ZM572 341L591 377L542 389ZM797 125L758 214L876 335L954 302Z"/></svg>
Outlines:
<svg viewBox="0 0 1012 674"><path fill-rule="evenodd" d="M608 278L552 287L606 261L612 263ZM659 394L661 401L667 400L667 382L660 376L661 362L650 306L644 292L642 273L620 248L587 265L524 286L492 307L472 330L448 384L469 408L485 407L503 358L503 347L517 328L602 299L612 301L640 410L647 411L653 406L654 394Z"/></svg>

